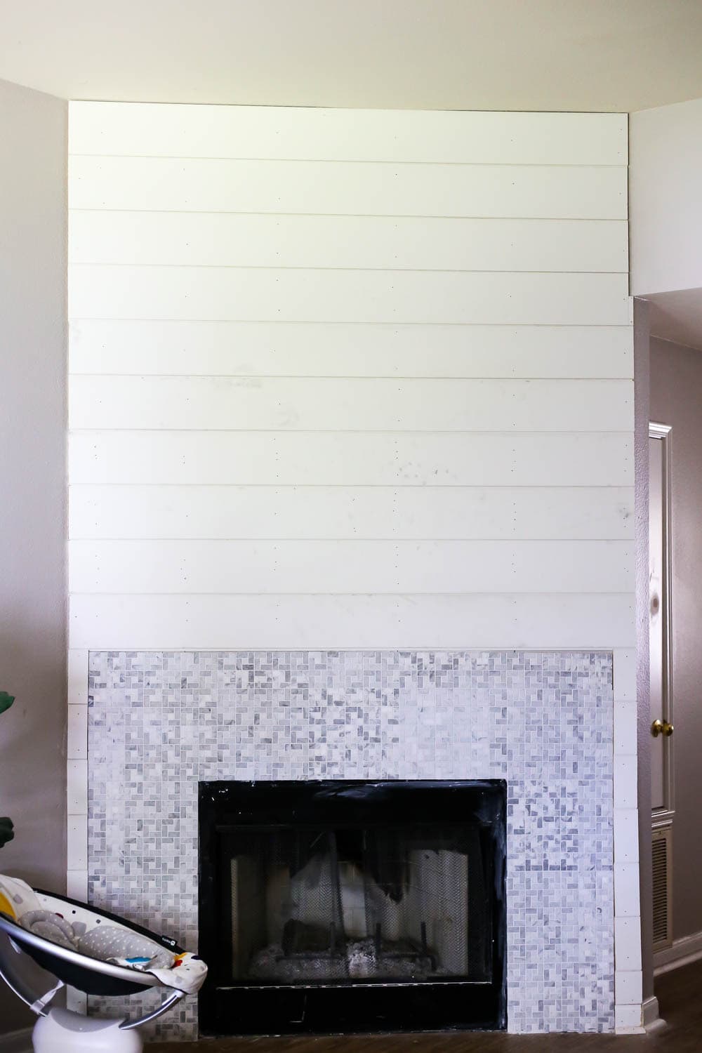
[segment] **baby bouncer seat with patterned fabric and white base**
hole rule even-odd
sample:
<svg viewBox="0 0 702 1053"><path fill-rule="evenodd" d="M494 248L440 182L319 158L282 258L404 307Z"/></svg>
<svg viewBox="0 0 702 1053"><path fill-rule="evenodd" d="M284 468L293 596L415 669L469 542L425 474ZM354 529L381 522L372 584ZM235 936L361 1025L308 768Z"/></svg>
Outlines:
<svg viewBox="0 0 702 1053"><path fill-rule="evenodd" d="M140 1053L138 1029L198 991L206 974L173 939L0 875L0 976L39 1017L35 1053ZM162 988L165 997L138 1019L97 1019L49 1008L64 985L102 996Z"/></svg>

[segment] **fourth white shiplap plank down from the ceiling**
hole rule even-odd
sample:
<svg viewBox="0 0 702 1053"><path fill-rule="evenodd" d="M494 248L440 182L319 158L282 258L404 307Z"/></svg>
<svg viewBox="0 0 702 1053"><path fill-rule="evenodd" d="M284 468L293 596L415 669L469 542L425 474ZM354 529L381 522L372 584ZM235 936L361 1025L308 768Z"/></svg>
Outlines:
<svg viewBox="0 0 702 1053"><path fill-rule="evenodd" d="M623 274L74 263L74 318L626 325Z"/></svg>

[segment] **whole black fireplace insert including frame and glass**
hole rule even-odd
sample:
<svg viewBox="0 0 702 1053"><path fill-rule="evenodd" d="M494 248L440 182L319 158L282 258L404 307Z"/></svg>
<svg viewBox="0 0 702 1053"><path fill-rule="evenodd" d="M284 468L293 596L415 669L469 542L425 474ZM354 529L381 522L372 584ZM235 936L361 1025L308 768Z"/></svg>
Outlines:
<svg viewBox="0 0 702 1053"><path fill-rule="evenodd" d="M201 782L203 1035L501 1029L505 783Z"/></svg>

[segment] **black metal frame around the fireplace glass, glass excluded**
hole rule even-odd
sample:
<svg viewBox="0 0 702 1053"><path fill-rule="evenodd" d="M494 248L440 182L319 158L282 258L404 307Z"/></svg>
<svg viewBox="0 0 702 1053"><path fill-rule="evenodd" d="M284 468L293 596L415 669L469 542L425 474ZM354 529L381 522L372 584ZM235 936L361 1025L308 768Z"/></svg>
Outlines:
<svg viewBox="0 0 702 1053"><path fill-rule="evenodd" d="M199 787L200 954L209 967L199 996L203 1035L504 1030L506 783L469 781L201 782ZM226 874L218 841L248 832L303 826L466 824L478 836L493 888L492 979L233 984L230 947L217 918ZM227 859L224 861L228 863ZM475 931L469 926L470 932ZM226 979L225 979L226 978Z"/></svg>

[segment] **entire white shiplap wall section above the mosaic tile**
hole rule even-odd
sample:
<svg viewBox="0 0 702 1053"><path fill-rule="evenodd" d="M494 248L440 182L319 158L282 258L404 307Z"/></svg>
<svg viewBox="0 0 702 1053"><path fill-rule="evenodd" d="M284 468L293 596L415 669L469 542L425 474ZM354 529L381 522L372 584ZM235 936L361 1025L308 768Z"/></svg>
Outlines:
<svg viewBox="0 0 702 1053"><path fill-rule="evenodd" d="M634 645L626 120L74 103L71 642Z"/></svg>

